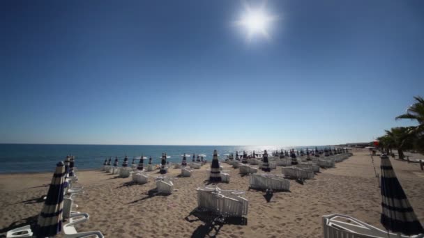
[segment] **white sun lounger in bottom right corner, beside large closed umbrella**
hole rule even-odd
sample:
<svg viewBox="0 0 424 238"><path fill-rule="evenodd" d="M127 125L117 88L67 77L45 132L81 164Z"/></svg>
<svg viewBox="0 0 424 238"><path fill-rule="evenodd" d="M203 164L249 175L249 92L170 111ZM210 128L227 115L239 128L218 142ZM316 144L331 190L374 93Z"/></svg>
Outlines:
<svg viewBox="0 0 424 238"><path fill-rule="evenodd" d="M404 235L389 233L386 230L380 230L363 221L354 219L351 216L342 214L332 214L322 216L322 228L324 238L406 238ZM424 237L423 234L412 236L415 238ZM411 237L410 237L411 238Z"/></svg>

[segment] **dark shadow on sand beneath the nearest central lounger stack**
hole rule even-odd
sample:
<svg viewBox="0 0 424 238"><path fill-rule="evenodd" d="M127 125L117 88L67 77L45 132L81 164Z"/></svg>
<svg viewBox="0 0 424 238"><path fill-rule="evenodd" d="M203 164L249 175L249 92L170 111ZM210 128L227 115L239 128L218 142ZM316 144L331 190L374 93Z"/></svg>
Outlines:
<svg viewBox="0 0 424 238"><path fill-rule="evenodd" d="M199 208L195 208L190 212L185 217L185 221L190 223L195 221L204 222L193 231L191 237L217 237L223 225L248 225L248 219L244 217L225 218Z"/></svg>

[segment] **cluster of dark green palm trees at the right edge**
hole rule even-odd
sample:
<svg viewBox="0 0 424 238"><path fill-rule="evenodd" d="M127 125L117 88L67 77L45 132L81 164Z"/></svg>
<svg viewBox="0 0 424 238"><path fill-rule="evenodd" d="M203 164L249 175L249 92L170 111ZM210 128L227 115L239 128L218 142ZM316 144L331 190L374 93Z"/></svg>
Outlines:
<svg viewBox="0 0 424 238"><path fill-rule="evenodd" d="M396 149L400 159L404 159L405 150L424 151L424 100L423 97L414 97L414 99L416 102L409 106L407 112L395 119L415 120L418 125L415 127L393 127L386 130L384 136L377 138L379 147L384 152L390 153L392 149Z"/></svg>

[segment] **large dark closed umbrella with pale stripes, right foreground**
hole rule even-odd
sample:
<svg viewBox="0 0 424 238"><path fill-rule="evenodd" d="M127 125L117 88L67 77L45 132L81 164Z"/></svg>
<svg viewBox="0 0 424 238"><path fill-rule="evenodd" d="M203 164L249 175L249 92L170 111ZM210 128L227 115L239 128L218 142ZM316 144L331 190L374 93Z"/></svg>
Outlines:
<svg viewBox="0 0 424 238"><path fill-rule="evenodd" d="M381 155L381 219L380 222L391 232L404 235L423 233L423 226L416 218L414 209L396 177L391 161Z"/></svg>

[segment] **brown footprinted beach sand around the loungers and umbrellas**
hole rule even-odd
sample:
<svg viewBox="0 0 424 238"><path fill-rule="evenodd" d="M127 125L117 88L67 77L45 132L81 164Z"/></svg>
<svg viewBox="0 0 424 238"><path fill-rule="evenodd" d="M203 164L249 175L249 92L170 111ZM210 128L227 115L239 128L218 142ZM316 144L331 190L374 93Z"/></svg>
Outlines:
<svg viewBox="0 0 424 238"><path fill-rule="evenodd" d="M417 154L412 155L418 159ZM423 171L419 164L391 161L423 223ZM353 157L336 168L321 169L314 180L303 185L292 180L290 191L274 193L271 203L266 203L262 191L248 191L249 176L241 177L238 169L222 166L231 179L219 187L246 191L249 212L245 221L214 226L203 217L190 215L197 207L195 189L206 180L206 166L195 170L192 177L176 177L180 169L170 169L176 191L169 196L149 196L156 187L152 178L139 185L132 184L130 177L91 170L77 173L85 190L75 196L77 210L90 214L90 220L77 225L77 230L100 230L105 237L322 237L321 216L334 213L382 228L379 183L374 174L374 166L379 173L379 158L374 157L372 163L366 150L354 150ZM281 173L281 169L272 173ZM43 206L39 198L47 193L51 177L52 173L0 175L0 234L36 220Z"/></svg>

